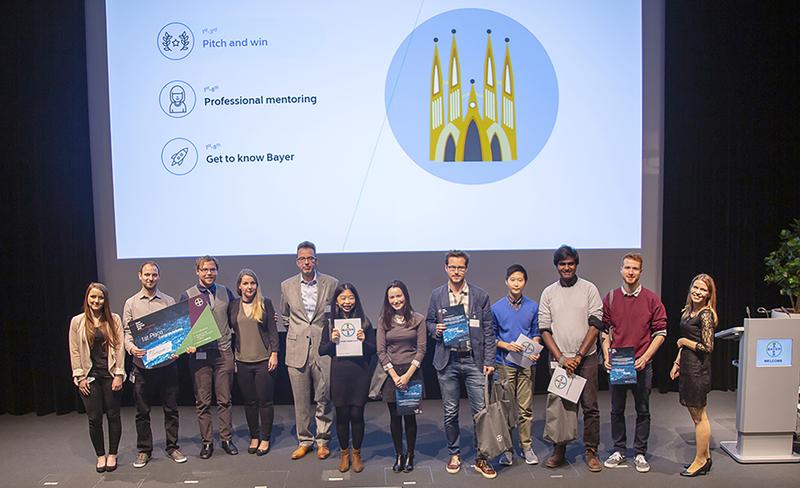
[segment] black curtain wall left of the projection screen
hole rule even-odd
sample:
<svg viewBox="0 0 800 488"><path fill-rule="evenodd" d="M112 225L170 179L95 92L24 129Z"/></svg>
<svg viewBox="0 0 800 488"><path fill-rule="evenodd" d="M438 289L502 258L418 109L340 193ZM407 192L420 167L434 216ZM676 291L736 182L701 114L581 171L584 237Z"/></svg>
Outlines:
<svg viewBox="0 0 800 488"><path fill-rule="evenodd" d="M83 2L3 11L0 413L68 412L69 319L97 275Z"/></svg>

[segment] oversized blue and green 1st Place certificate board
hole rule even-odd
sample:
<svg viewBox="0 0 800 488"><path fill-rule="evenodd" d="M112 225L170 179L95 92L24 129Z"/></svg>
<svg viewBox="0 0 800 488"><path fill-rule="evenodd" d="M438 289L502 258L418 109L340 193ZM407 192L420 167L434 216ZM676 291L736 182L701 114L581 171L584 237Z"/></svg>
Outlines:
<svg viewBox="0 0 800 488"><path fill-rule="evenodd" d="M196 296L128 323L133 342L144 349L142 362L152 368L186 352L216 341L222 335L204 296Z"/></svg>

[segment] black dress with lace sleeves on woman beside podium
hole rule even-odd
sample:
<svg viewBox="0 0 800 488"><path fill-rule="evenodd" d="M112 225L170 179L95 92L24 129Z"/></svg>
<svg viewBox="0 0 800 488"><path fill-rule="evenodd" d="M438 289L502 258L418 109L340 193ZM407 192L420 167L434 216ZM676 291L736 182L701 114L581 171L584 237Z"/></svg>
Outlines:
<svg viewBox="0 0 800 488"><path fill-rule="evenodd" d="M714 351L714 314L701 310L694 317L681 318L681 337L697 342L697 350L681 351L678 392L681 405L705 407L711 391L711 353Z"/></svg>

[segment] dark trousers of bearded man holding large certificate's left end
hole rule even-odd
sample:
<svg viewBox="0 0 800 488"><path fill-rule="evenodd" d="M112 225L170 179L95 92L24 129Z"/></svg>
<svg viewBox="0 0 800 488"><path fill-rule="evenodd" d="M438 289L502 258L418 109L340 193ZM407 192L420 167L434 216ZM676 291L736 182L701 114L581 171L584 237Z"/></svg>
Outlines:
<svg viewBox="0 0 800 488"><path fill-rule="evenodd" d="M159 399L164 408L167 453L178 449L178 363L155 369L134 366L131 377L136 402L136 448L139 452L153 452L150 406Z"/></svg>

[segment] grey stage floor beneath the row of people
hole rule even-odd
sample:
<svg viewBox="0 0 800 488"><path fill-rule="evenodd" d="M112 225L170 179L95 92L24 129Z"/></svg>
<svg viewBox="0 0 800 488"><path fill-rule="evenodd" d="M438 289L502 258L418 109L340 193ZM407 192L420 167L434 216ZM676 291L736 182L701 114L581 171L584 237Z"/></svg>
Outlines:
<svg viewBox="0 0 800 488"><path fill-rule="evenodd" d="M536 395L534 410L534 450L542 462L550 446L541 438L544 429L545 395ZM600 393L601 442L603 460L609 455L611 426L609 423L608 392ZM686 409L678 403L677 393L653 393L651 397L652 426L649 462L651 471L636 472L630 467L603 469L590 473L583 460L581 444L572 443L567 450L569 464L559 469L547 469L542 464L528 466L520 458L510 467L494 463L498 476L483 479L471 467L474 462L473 436L468 404L461 403L462 454L465 462L461 472L450 475L445 471L447 448L442 430L441 403L423 402L424 414L418 418L417 464L410 474L395 474L391 470L394 449L388 427L388 411L382 402L367 405L367 435L363 453L366 469L356 474L339 473L337 444L331 444L332 455L319 461L312 454L299 461L289 459L297 446L294 437L294 415L291 406L278 406L275 413L273 442L269 454L263 457L247 454L247 427L244 413L234 407L235 442L240 453L229 456L215 441L214 456L209 460L198 457L200 451L194 409L181 407L181 450L189 457L185 464L175 464L163 451L163 416L160 408L153 412L153 435L156 449L153 459L141 469L132 462L136 456L134 409L122 411L123 434L120 444L120 467L103 475L94 472L92 452L85 415L0 416L0 486L58 488L160 488L160 487L242 487L242 488L300 488L300 487L460 487L478 483L484 486L525 486L546 484L556 487L642 486L670 487L675 484L692 486L800 486L800 464L737 464L719 448L723 440L735 440L736 393L713 392L709 397L709 417L714 467L708 476L694 480L681 478L682 464L694 454L694 429ZM628 402L628 438L632 443L633 399ZM216 424L215 424L216 426ZM579 426L579 432L580 432ZM216 428L215 428L216 432ZM334 434L335 436L335 434ZM631 454L629 453L629 456Z"/></svg>

